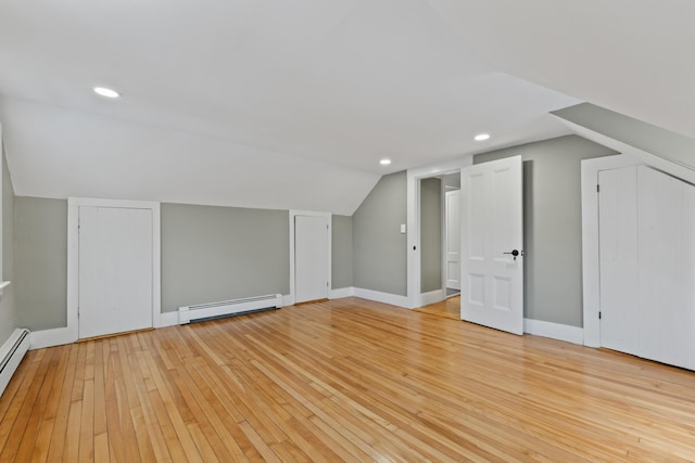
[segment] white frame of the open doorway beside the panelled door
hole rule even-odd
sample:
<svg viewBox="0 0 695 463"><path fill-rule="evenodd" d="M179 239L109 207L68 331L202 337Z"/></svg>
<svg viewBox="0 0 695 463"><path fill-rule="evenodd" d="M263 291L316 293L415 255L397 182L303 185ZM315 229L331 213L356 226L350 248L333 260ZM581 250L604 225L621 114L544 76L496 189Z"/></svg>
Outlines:
<svg viewBox="0 0 695 463"><path fill-rule="evenodd" d="M468 155L445 163L408 169L406 172L407 304L409 309L421 307L425 304L425 298L420 292L420 180L443 173L460 173L460 169L472 164L473 156ZM446 294L446 288L443 290L443 294Z"/></svg>

